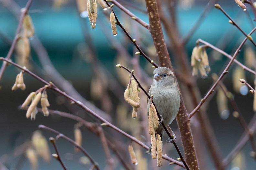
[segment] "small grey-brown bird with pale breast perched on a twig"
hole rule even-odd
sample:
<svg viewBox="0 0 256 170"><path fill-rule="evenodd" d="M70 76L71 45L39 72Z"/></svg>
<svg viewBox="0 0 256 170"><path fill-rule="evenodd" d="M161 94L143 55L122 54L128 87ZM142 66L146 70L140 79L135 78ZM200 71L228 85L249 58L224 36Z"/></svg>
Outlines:
<svg viewBox="0 0 256 170"><path fill-rule="evenodd" d="M162 115L165 126L170 125L176 118L180 107L180 92L176 84L173 72L166 67L158 67L154 70L154 79L148 94L153 95L153 101L159 114ZM147 115L150 107L148 99ZM157 134L163 137L163 126L156 129ZM163 140L162 140L163 141ZM151 153L151 144L148 150Z"/></svg>

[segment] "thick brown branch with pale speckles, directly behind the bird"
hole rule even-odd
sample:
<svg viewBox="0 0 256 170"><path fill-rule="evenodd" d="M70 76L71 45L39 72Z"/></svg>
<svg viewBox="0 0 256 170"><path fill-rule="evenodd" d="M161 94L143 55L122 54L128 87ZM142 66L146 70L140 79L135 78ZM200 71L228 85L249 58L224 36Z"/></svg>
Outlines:
<svg viewBox="0 0 256 170"><path fill-rule="evenodd" d="M168 67L171 70L173 70L169 53L167 51L167 47L164 40L162 26L157 11L156 1L146 0L146 6L149 16L149 30L154 41L159 63L162 67ZM190 120L187 115L187 109L185 107L182 95L181 105L179 113L177 115L177 122L181 134L187 134L181 135L186 162L191 169L199 169L193 136L190 128Z"/></svg>

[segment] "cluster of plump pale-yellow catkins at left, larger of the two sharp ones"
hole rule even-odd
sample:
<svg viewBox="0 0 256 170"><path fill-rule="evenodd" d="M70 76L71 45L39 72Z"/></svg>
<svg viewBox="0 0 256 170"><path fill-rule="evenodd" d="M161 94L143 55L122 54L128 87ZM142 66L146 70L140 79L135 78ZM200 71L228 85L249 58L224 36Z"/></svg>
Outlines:
<svg viewBox="0 0 256 170"><path fill-rule="evenodd" d="M41 100L41 106L44 116L49 115L48 107L50 106L49 101L47 99L46 90L43 91L43 94L40 92L32 92L27 96L27 99L21 106L21 109L25 109L28 104L31 102L30 106L27 109L27 118L31 118L31 120L35 120L37 114L37 104Z"/></svg>

